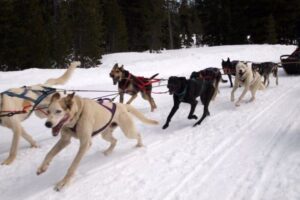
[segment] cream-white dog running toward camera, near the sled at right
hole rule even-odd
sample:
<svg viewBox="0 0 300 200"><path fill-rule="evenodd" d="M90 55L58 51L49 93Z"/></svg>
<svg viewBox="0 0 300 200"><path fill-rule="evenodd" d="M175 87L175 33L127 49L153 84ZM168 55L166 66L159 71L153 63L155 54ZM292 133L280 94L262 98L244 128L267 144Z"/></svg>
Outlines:
<svg viewBox="0 0 300 200"><path fill-rule="evenodd" d="M236 65L236 78L231 92L231 101L234 101L234 93L240 85L244 86L244 90L238 101L235 103L236 106L240 106L241 101L243 100L248 90L250 90L252 95L249 102L252 102L255 100L256 91L263 90L265 88L261 81L260 74L257 71L253 71L251 66L242 62L238 62L238 64Z"/></svg>

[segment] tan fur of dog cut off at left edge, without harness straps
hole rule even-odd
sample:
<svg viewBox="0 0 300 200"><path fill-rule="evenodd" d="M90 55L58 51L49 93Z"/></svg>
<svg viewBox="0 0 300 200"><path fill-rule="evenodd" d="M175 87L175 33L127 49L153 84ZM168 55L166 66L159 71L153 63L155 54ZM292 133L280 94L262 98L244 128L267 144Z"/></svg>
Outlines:
<svg viewBox="0 0 300 200"><path fill-rule="evenodd" d="M73 71L78 65L80 65L80 62L73 62L70 64L67 71L61 77L56 79L55 78L49 79L44 84L33 85L30 86L30 88L35 90L43 90L44 89L43 86L49 87L53 85L64 84L70 79L71 75L73 74ZM9 89L8 91L16 94L21 94L24 91L24 88L12 88ZM27 96L32 99L37 99L39 97L39 94L29 90ZM40 102L40 104L36 108L44 108L48 106L51 96L52 95L48 95L45 99L43 99L43 101ZM19 111L19 110L23 110L24 106L28 106L28 105L33 106L33 103L23 98L11 97L6 94L1 94L0 105L1 105L0 108L1 111L3 110ZM18 114L10 117L0 118L1 120L0 125L7 127L13 131L13 141L10 147L10 152L8 157L2 162L2 164L9 165L15 160L17 155L17 150L18 150L18 144L21 137L23 137L27 142L29 142L31 147L37 147L36 141L25 131L25 129L21 125L21 122L29 117L29 113L30 112L27 112L26 114ZM46 118L45 112L42 112L41 110L35 110L34 113L39 118Z"/></svg>

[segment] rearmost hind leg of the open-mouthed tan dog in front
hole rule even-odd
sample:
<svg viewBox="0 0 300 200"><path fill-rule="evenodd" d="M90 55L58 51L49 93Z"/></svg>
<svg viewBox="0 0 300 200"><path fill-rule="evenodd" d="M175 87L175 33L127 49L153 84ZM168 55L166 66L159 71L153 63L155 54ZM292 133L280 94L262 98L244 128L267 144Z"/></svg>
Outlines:
<svg viewBox="0 0 300 200"><path fill-rule="evenodd" d="M128 113L120 115L119 126L127 138L137 140L136 147L143 146L141 135L137 132L133 119Z"/></svg>

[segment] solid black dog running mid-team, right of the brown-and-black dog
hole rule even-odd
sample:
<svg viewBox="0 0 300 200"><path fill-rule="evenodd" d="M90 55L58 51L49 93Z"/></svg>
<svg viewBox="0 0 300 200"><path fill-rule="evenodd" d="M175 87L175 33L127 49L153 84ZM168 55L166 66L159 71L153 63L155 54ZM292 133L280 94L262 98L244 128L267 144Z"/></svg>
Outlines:
<svg viewBox="0 0 300 200"><path fill-rule="evenodd" d="M197 80L197 79L186 79L185 77L176 77L171 76L168 80L169 93L173 95L174 106L167 118L163 129L168 128L169 123L178 110L181 102L191 104L191 110L188 115L188 119L198 119L196 115L194 115L195 108L197 106L198 101L197 97L200 96L201 102L204 105L204 111L201 119L194 125L200 125L203 119L209 115L208 105L212 100L212 97L215 92L215 87L211 81L205 80Z"/></svg>

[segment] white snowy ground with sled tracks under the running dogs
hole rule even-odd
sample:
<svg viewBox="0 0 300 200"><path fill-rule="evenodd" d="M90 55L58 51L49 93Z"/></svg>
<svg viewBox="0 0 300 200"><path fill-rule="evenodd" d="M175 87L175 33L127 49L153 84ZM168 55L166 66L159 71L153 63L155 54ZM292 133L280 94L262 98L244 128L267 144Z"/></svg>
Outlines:
<svg viewBox="0 0 300 200"><path fill-rule="evenodd" d="M295 48L251 45L173 50L162 54L110 54L104 56L99 68L77 69L71 81L61 87L115 90L108 73L116 62L124 64L133 74L151 76L159 72L160 77L167 78L189 76L190 72L205 67L221 67L221 59L227 57L279 62L280 55L289 54ZM42 83L62 72L39 69L1 72L0 89ZM126 139L117 130L118 145L106 157L102 151L108 144L100 137L94 138L73 183L59 193L53 186L66 173L77 152L78 141L73 140L53 160L48 171L37 176L37 167L58 138L51 136L43 120L32 116L23 124L40 148L30 149L22 141L16 161L11 166L0 166L0 199L299 200L300 77L287 76L282 69L279 75L279 86L271 78L270 87L259 91L255 102L243 103L238 108L229 101L229 83L221 83L221 93L210 105L211 116L196 128L192 128L195 121L187 119L189 106L182 104L170 127L161 129L173 105L168 94L154 96L158 105L154 113L147 102L137 98L133 105L160 121L159 126L146 126L137 121L146 146L133 148L135 141ZM166 88L154 91L166 91ZM199 116L202 109L199 104L195 113ZM12 134L3 127L0 131L2 161L8 155Z"/></svg>

